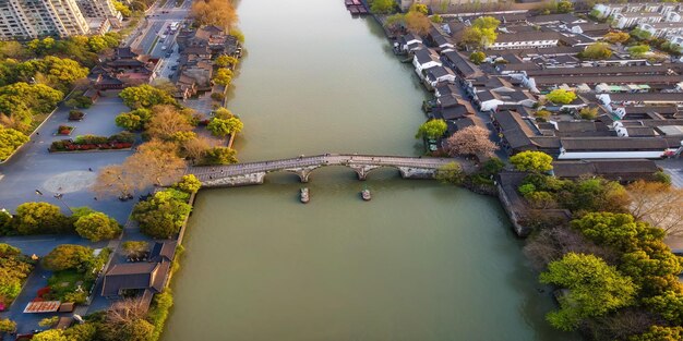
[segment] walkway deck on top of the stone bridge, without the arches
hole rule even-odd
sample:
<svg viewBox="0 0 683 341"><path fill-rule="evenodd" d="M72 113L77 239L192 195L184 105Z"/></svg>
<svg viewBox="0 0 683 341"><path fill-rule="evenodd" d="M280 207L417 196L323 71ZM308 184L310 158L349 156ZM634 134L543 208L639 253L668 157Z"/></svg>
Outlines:
<svg viewBox="0 0 683 341"><path fill-rule="evenodd" d="M274 172L287 169L323 166L373 166L373 167L410 167L421 169L438 169L453 162L450 158L421 158L400 156L372 156L372 155L347 155L326 154L310 157L280 159L271 161L247 162L228 166L190 167L188 173L195 174L202 182L209 179L220 179L237 175L253 174L260 172Z"/></svg>

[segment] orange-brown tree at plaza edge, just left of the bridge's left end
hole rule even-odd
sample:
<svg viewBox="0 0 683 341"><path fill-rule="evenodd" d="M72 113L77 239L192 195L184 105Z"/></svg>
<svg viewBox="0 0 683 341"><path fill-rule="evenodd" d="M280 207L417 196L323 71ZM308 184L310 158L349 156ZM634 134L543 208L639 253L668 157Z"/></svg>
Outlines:
<svg viewBox="0 0 683 341"><path fill-rule="evenodd" d="M136 173L137 183L143 186L175 182L185 168L176 149L172 143L153 139L137 147L137 151L123 161L123 167Z"/></svg>

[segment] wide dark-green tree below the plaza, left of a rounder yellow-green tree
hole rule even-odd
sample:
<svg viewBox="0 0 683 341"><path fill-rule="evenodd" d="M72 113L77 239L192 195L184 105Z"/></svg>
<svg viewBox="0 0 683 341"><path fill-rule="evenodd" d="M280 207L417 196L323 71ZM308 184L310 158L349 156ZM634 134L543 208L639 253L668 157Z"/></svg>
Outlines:
<svg viewBox="0 0 683 341"><path fill-rule="evenodd" d="M69 219L48 203L24 203L16 208L13 226L20 234L69 232Z"/></svg>

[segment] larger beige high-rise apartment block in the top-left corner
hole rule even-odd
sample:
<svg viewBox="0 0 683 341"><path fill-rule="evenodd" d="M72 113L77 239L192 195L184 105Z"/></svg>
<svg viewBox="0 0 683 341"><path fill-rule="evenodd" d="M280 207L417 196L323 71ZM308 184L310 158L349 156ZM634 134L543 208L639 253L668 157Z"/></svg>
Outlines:
<svg viewBox="0 0 683 341"><path fill-rule="evenodd" d="M0 39L67 37L88 31L75 0L0 0Z"/></svg>

